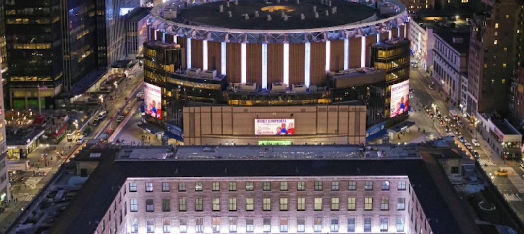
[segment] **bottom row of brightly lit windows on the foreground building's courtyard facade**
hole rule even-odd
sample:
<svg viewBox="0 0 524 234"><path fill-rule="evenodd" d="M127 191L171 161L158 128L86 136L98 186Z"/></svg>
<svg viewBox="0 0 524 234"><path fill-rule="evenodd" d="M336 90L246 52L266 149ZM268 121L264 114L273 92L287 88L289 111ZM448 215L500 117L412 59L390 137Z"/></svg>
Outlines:
<svg viewBox="0 0 524 234"><path fill-rule="evenodd" d="M322 217L313 217L313 225L309 226L306 225L305 217L297 217L296 225L290 227L290 220L289 217L280 217L279 218L279 224L278 226L271 224L271 217L262 217L261 222L258 220L255 220L255 217L246 217L245 218L245 230L244 228L240 228L238 225L238 217L227 217L227 230L229 232L288 232L290 228L296 229L297 232L305 232L305 231L314 231L314 232L321 232L323 231L324 223ZM146 232L147 233L155 233L156 227L155 227L155 219L154 218L146 218L145 219L145 225L146 225ZM342 219L344 220L344 219ZM362 227L357 227L356 217L347 217L344 221L346 221L346 230L340 230L341 221L339 217L331 217L329 219L329 228L331 232L339 232L339 231L347 231L347 232L355 232L356 230L362 230L364 232L371 232L373 227L373 218L372 217L364 217L362 222ZM257 222L255 222L257 221ZM381 232L387 232L387 231L397 231L397 232L403 232L405 230L405 218L403 217L396 217L395 219L395 227L390 227L389 223L389 217L380 217L379 218L379 230ZM130 230L131 233L138 233L140 231L140 221L138 218L131 218L129 220L130 224ZM259 225L260 224L260 225ZM194 230L189 230L190 232L196 232L196 233L203 233L204 230L206 232L221 232L221 226L222 226L222 220L221 217L211 217L211 225L204 225L204 218L203 217L196 217L194 219ZM309 226L309 227L308 227ZM279 230L271 230L271 228L278 227ZM188 225L188 218L186 217L179 217L177 222L172 224L172 220L170 218L163 218L162 219L162 232L163 233L171 233L174 230L174 228L178 228L178 232L180 233L186 233L188 232L188 229L192 229ZM210 229L210 230L208 230ZM292 230L294 231L294 230ZM327 231L327 230L324 230ZM378 230L373 230L378 231Z"/></svg>

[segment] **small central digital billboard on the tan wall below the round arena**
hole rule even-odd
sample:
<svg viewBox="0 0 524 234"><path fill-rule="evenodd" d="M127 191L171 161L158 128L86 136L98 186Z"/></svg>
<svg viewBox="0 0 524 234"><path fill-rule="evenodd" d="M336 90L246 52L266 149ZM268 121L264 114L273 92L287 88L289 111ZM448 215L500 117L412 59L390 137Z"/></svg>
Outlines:
<svg viewBox="0 0 524 234"><path fill-rule="evenodd" d="M256 119L255 135L294 135L294 119Z"/></svg>

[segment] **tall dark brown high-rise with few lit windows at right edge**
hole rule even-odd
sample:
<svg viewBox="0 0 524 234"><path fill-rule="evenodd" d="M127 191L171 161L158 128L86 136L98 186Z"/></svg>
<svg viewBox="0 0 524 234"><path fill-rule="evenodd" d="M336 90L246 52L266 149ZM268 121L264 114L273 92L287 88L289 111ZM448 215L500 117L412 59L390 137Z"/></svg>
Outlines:
<svg viewBox="0 0 524 234"><path fill-rule="evenodd" d="M506 114L509 85L520 58L522 5L516 0L482 1L472 20L468 58L467 113Z"/></svg>

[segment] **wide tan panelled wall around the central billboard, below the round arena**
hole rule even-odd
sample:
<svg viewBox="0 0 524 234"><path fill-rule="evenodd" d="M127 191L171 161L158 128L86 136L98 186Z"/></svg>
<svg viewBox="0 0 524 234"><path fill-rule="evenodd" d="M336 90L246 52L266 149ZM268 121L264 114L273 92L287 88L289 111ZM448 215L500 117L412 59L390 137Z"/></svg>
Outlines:
<svg viewBox="0 0 524 234"><path fill-rule="evenodd" d="M187 145L256 145L259 140L356 144L366 138L365 106L185 107L183 113ZM294 119L295 135L255 135L255 119Z"/></svg>

